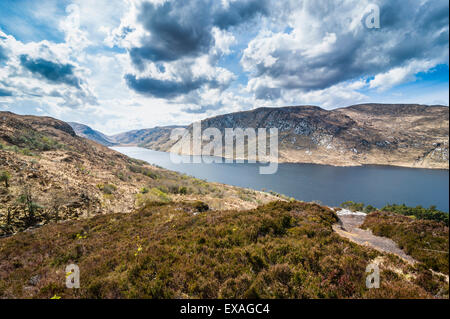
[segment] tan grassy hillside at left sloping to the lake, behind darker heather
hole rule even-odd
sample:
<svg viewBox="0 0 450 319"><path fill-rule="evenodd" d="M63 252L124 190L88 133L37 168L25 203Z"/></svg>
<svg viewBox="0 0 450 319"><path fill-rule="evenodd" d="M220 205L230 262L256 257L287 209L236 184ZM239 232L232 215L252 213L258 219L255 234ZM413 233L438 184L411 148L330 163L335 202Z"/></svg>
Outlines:
<svg viewBox="0 0 450 319"><path fill-rule="evenodd" d="M269 194L147 165L76 136L65 122L0 112L0 237L42 224L128 213L148 201L252 208Z"/></svg>

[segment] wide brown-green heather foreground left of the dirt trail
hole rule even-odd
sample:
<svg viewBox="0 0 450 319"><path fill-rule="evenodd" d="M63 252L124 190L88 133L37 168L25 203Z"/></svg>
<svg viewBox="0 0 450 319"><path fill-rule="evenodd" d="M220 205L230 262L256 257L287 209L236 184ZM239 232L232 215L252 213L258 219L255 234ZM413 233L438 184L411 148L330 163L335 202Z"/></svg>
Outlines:
<svg viewBox="0 0 450 319"><path fill-rule="evenodd" d="M383 270L381 289L367 289L366 266L380 253L339 237L332 231L337 216L317 204L200 206L147 201L133 214L1 239L0 297L430 298L438 284ZM65 288L71 263L80 267L80 289ZM32 277L39 280L30 283Z"/></svg>

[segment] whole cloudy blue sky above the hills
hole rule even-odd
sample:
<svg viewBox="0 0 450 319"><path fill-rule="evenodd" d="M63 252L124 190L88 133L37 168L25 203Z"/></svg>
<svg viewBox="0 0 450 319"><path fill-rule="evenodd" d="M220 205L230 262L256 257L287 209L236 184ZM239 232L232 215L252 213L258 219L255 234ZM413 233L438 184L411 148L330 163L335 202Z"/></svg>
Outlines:
<svg viewBox="0 0 450 319"><path fill-rule="evenodd" d="M106 134L256 107L449 104L448 0L1 0L0 111Z"/></svg>

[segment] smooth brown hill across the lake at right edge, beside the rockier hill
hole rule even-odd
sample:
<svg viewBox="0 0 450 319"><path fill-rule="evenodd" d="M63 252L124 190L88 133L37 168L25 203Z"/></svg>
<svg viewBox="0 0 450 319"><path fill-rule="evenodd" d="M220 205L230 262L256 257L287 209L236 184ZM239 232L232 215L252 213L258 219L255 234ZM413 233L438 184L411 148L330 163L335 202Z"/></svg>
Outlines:
<svg viewBox="0 0 450 319"><path fill-rule="evenodd" d="M370 144L368 163L448 169L447 106L363 104L337 111L383 137Z"/></svg>

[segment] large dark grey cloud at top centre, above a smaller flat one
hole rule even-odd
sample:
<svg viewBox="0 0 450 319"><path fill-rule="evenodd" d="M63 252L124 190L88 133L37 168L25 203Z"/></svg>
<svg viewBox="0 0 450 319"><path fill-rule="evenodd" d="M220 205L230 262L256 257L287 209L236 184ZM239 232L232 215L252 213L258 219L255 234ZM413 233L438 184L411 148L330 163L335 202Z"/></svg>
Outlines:
<svg viewBox="0 0 450 319"><path fill-rule="evenodd" d="M228 29L267 14L266 0L245 0L222 7L216 0L168 1L162 5L144 3L138 21L150 36L130 50L135 65L145 60L174 61L198 56L214 45L211 29Z"/></svg>

